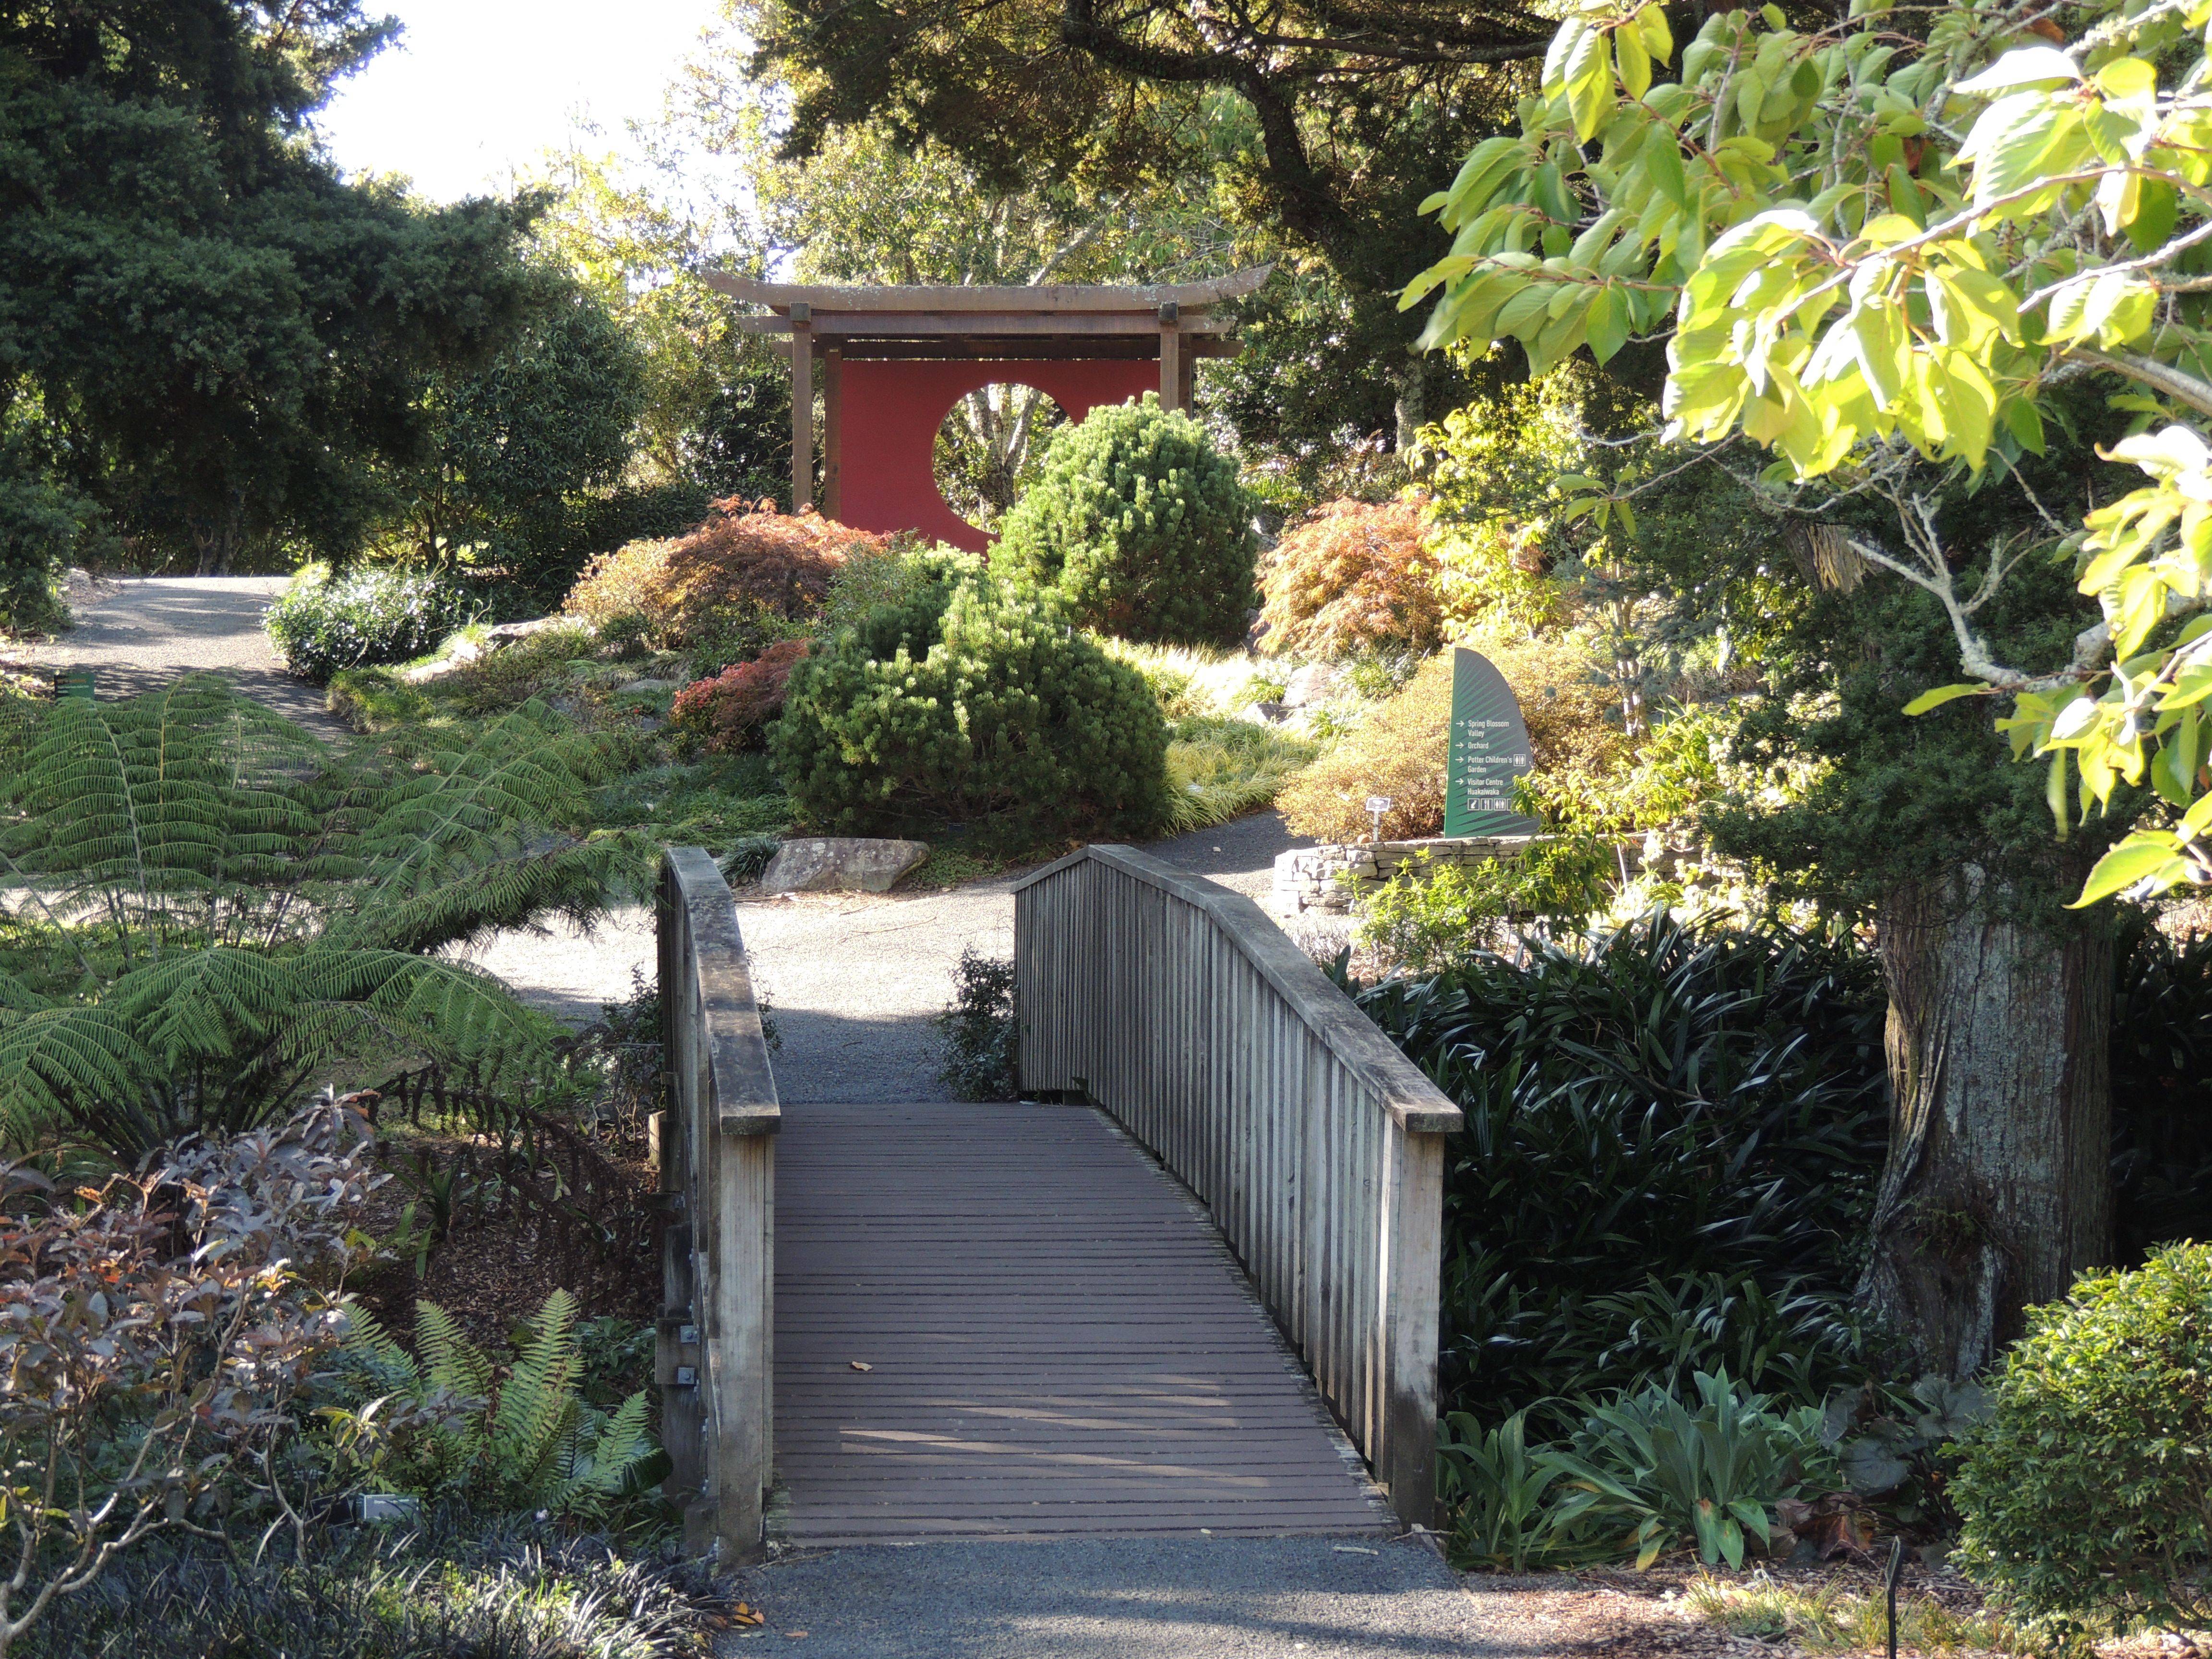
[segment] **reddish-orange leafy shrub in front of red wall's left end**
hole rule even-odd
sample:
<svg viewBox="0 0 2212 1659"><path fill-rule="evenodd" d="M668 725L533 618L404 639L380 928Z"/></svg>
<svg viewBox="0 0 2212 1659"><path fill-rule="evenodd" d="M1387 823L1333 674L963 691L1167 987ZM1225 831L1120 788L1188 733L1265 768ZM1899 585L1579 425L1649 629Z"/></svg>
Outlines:
<svg viewBox="0 0 2212 1659"><path fill-rule="evenodd" d="M889 538L814 511L779 513L768 500L732 495L690 535L595 557L564 608L597 628L641 617L670 650L734 641L734 655L752 655L812 622L847 557L887 546Z"/></svg>

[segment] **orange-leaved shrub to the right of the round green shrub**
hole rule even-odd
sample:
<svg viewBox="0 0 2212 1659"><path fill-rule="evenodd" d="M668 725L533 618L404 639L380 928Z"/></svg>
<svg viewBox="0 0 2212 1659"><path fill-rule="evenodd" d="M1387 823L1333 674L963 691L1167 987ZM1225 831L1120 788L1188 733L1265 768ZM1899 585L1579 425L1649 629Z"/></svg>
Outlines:
<svg viewBox="0 0 2212 1659"><path fill-rule="evenodd" d="M1444 588L1425 509L1416 493L1327 502L1285 531L1261 566L1263 646L1279 657L1436 650Z"/></svg>

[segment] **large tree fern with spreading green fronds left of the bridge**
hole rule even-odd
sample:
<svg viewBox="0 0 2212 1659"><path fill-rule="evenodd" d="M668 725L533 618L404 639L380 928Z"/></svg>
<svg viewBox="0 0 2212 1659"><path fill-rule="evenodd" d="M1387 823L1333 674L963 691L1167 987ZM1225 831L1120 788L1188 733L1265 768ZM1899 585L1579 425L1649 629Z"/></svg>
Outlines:
<svg viewBox="0 0 2212 1659"><path fill-rule="evenodd" d="M595 765L535 706L347 754L215 675L0 708L0 1144L250 1128L345 1057L542 1064L555 1026L429 953L644 874L577 834Z"/></svg>

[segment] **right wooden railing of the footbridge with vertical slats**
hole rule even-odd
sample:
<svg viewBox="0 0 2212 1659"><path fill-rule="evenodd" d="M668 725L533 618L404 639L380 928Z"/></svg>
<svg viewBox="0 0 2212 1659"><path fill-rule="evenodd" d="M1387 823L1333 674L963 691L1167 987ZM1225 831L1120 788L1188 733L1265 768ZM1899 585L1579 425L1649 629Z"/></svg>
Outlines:
<svg viewBox="0 0 2212 1659"><path fill-rule="evenodd" d="M1243 894L1135 847L1015 885L1022 1086L1082 1091L1212 1210L1407 1524L1436 1515L1460 1108Z"/></svg>

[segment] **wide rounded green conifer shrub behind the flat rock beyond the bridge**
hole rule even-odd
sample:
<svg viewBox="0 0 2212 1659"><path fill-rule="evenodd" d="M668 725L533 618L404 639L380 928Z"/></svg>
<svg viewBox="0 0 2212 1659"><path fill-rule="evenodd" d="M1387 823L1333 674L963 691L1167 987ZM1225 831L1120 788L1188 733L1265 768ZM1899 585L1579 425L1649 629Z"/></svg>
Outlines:
<svg viewBox="0 0 2212 1659"><path fill-rule="evenodd" d="M1166 810L1168 730L1144 679L989 577L816 644L770 754L825 830L1139 834Z"/></svg>

